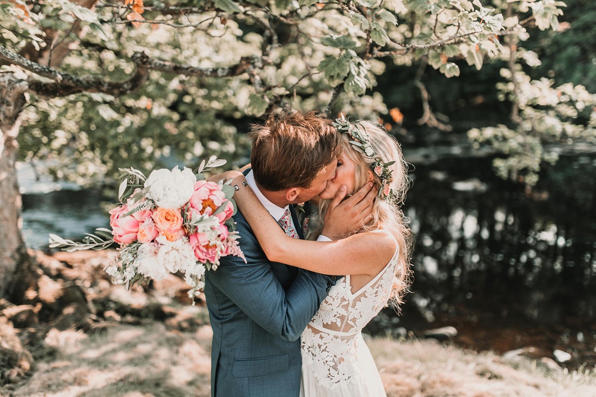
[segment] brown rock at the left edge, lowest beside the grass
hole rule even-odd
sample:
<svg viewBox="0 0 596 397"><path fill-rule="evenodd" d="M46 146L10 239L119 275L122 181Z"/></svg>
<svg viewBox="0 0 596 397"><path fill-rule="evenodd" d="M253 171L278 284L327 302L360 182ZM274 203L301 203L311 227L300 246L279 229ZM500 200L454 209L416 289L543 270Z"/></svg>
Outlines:
<svg viewBox="0 0 596 397"><path fill-rule="evenodd" d="M7 318L0 317L0 385L18 382L32 369L33 357L23 348Z"/></svg>

